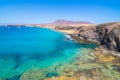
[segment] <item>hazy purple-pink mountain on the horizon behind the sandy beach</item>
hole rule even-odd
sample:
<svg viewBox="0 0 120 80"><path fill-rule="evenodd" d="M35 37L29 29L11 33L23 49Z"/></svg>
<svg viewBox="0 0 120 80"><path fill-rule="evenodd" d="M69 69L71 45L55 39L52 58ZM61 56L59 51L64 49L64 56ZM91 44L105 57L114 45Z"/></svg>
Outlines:
<svg viewBox="0 0 120 80"><path fill-rule="evenodd" d="M73 26L73 27L78 27L81 25L89 25L92 24L91 22L86 22L86 21L69 21L69 20L56 20L52 23L48 23L48 24L42 24L43 27L69 27L69 26Z"/></svg>

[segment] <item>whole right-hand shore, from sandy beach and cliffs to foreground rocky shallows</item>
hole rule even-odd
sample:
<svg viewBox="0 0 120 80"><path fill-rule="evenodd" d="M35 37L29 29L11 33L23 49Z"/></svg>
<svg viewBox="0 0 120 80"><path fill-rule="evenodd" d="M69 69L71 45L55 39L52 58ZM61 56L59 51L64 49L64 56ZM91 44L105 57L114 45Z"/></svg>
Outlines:
<svg viewBox="0 0 120 80"><path fill-rule="evenodd" d="M50 28L50 27L47 27ZM70 63L54 64L47 69L29 69L20 80L119 80L120 79L120 22L80 27L53 27L70 34L80 44L98 44L95 49L80 49ZM70 32L71 31L71 32ZM50 72L48 72L51 70ZM48 74L49 73L49 74Z"/></svg>

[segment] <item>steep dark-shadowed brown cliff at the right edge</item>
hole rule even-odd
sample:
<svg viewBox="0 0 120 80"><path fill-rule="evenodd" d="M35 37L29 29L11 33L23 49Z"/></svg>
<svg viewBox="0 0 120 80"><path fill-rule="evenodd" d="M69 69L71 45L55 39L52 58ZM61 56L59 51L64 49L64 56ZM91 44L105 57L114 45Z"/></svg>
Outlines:
<svg viewBox="0 0 120 80"><path fill-rule="evenodd" d="M108 23L96 26L100 44L109 50L120 52L120 23Z"/></svg>

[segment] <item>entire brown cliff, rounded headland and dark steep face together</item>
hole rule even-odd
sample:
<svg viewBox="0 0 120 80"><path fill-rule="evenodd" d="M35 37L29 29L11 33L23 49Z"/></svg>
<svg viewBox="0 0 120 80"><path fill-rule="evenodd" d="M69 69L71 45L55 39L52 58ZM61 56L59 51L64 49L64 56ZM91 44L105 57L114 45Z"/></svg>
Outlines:
<svg viewBox="0 0 120 80"><path fill-rule="evenodd" d="M109 50L120 52L120 22L81 26L75 30L74 36L82 40L98 42Z"/></svg>

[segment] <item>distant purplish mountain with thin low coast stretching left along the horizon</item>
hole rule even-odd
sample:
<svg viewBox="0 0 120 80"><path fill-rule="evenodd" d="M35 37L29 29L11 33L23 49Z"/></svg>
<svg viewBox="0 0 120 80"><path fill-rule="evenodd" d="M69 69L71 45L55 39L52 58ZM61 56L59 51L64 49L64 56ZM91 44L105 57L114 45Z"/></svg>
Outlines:
<svg viewBox="0 0 120 80"><path fill-rule="evenodd" d="M5 25L5 24L4 24ZM48 27L48 28L63 28L63 27L79 27L79 26L88 26L88 25L93 25L91 22L87 21L69 21L69 20L63 20L59 19L51 23L46 23L46 24L6 24L6 25L15 25L15 26L38 26L38 27Z"/></svg>

